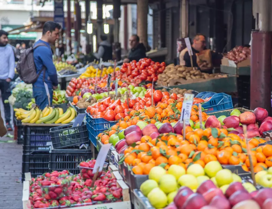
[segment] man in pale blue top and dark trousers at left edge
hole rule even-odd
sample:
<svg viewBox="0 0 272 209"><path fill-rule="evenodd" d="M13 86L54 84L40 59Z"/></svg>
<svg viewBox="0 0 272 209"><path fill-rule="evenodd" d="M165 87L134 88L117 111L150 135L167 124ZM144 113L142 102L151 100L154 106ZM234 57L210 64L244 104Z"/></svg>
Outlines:
<svg viewBox="0 0 272 209"><path fill-rule="evenodd" d="M9 83L13 79L15 74L15 60L14 51L10 45L8 45L8 33L4 30L0 30L0 90L1 97L4 100L8 99L11 95ZM5 119L7 130L12 130L10 125L10 106L4 103Z"/></svg>

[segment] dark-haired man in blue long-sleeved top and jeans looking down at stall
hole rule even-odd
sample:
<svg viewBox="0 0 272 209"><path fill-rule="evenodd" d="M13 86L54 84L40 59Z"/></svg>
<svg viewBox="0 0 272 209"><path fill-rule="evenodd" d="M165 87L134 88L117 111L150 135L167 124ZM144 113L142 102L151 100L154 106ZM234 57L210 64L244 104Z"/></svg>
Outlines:
<svg viewBox="0 0 272 209"><path fill-rule="evenodd" d="M59 38L60 29L61 26L56 22L48 21L44 23L43 35L40 40L34 43L34 47L39 43L45 44L45 46L35 48L33 52L37 74L38 72L42 71L37 81L33 84L33 97L35 98L36 104L41 109L44 109L46 105L48 105L48 97L46 95L43 79L48 86L51 104L53 99L53 89L56 89L58 86L58 77L55 65L53 63L53 53L50 44L55 44L55 41ZM46 68L45 76L43 75L44 67Z"/></svg>

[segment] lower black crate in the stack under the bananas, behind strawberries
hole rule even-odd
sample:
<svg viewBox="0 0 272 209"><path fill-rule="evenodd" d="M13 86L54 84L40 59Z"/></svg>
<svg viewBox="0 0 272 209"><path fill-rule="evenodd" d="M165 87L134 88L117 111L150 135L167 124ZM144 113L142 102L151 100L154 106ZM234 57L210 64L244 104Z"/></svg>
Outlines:
<svg viewBox="0 0 272 209"><path fill-rule="evenodd" d="M37 177L49 171L49 152L33 152L22 155L22 182L25 180L25 173L30 172L31 177Z"/></svg>

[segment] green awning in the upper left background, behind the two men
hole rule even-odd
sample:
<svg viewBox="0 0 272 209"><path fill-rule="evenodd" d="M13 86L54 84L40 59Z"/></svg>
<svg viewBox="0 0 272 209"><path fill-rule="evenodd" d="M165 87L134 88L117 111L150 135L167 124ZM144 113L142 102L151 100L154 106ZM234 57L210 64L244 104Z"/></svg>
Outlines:
<svg viewBox="0 0 272 209"><path fill-rule="evenodd" d="M37 29L39 26L2 25L1 27L2 30L11 32L8 35L10 40L36 40L37 32L33 32L33 30Z"/></svg>

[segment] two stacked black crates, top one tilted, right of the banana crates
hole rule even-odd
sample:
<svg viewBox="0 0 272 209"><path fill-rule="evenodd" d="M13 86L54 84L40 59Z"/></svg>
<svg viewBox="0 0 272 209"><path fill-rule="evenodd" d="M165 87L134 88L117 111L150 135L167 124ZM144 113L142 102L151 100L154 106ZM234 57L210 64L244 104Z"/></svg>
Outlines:
<svg viewBox="0 0 272 209"><path fill-rule="evenodd" d="M86 125L54 127L50 129L50 135L49 172L69 170L78 174L78 164L93 156Z"/></svg>

